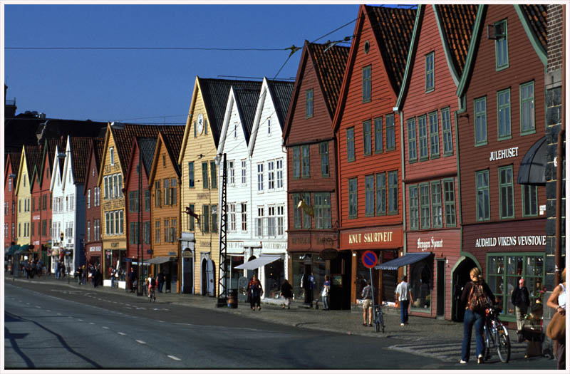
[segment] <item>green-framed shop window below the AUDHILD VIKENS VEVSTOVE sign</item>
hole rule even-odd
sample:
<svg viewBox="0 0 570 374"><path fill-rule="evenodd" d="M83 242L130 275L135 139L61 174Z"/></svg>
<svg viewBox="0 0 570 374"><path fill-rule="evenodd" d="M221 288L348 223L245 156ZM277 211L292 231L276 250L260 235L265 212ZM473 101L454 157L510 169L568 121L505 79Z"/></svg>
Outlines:
<svg viewBox="0 0 570 374"><path fill-rule="evenodd" d="M511 295L523 277L530 301L536 303L544 290L544 254L493 254L487 256L487 284L506 316L514 318ZM541 300L541 302L546 302Z"/></svg>

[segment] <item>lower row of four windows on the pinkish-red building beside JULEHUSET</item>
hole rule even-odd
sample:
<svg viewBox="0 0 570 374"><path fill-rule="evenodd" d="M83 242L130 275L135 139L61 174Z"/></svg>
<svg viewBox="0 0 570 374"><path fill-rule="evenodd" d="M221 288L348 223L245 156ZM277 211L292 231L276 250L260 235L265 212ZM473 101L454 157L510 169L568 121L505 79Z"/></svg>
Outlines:
<svg viewBox="0 0 570 374"><path fill-rule="evenodd" d="M442 199L443 192L443 199ZM455 227L455 183L436 180L410 185L410 230Z"/></svg>

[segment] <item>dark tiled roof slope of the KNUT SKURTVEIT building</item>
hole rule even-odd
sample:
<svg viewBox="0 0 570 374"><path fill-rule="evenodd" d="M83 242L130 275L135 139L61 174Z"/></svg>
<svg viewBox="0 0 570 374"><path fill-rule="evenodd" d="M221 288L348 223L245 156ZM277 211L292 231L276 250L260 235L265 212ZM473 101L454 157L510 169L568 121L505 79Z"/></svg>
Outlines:
<svg viewBox="0 0 570 374"><path fill-rule="evenodd" d="M388 78L396 93L400 91L405 63L410 50L417 9L364 6L380 47Z"/></svg>

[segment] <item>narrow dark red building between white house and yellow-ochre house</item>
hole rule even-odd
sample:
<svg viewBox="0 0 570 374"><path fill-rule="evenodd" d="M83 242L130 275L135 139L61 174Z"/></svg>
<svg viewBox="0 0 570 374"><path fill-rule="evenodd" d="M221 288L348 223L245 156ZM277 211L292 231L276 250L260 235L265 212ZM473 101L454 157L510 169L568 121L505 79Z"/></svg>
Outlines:
<svg viewBox="0 0 570 374"><path fill-rule="evenodd" d="M101 264L101 192L98 187L99 168L103 153L103 139L93 138L90 142L89 160L86 166L85 184L85 255L87 265Z"/></svg>

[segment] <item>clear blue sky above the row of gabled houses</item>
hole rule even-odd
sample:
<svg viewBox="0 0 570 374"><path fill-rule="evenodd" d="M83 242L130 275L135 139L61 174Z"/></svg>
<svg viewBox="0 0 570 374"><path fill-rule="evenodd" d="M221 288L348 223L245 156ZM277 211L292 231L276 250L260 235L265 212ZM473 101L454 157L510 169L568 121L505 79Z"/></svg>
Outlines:
<svg viewBox="0 0 570 374"><path fill-rule="evenodd" d="M9 47L303 46L358 5L4 5ZM318 42L353 33L354 23ZM348 45L348 44L345 44ZM48 118L184 123L195 77L274 78L289 51L4 51L7 98ZM278 78L294 78L301 51Z"/></svg>

